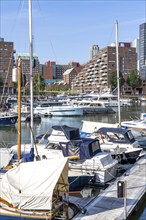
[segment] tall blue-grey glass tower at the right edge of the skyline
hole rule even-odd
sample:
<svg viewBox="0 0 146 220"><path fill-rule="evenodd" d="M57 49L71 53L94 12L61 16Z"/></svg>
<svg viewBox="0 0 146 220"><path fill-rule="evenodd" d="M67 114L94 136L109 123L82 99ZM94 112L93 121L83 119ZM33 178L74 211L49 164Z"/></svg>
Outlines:
<svg viewBox="0 0 146 220"><path fill-rule="evenodd" d="M139 26L139 67L140 77L146 79L146 23Z"/></svg>

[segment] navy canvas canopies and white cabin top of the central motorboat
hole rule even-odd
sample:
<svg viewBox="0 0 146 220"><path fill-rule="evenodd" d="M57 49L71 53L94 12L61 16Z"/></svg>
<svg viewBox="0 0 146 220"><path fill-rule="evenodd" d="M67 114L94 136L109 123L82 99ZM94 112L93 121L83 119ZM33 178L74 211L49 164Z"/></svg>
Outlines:
<svg viewBox="0 0 146 220"><path fill-rule="evenodd" d="M81 138L78 128L66 125L52 126L52 128L53 131L48 138L48 148L62 150L65 157L69 156L79 160L86 160L101 152L99 140Z"/></svg>

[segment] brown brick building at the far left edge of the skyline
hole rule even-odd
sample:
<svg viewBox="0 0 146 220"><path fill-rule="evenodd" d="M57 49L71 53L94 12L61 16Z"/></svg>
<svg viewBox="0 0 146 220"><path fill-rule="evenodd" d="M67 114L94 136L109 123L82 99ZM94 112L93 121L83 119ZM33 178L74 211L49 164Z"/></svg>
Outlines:
<svg viewBox="0 0 146 220"><path fill-rule="evenodd" d="M15 64L14 53L14 43L0 38L0 76L5 84L5 93L13 93L12 69Z"/></svg>

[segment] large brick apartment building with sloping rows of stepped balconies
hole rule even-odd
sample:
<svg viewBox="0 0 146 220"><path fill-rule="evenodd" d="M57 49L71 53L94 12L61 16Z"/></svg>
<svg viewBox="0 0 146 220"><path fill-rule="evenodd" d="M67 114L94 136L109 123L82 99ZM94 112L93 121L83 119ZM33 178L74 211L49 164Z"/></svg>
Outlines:
<svg viewBox="0 0 146 220"><path fill-rule="evenodd" d="M131 43L119 43L119 70L122 74L137 68L136 48ZM73 80L72 89L78 92L101 92L110 88L109 77L117 71L116 46L98 51L96 58L90 60Z"/></svg>

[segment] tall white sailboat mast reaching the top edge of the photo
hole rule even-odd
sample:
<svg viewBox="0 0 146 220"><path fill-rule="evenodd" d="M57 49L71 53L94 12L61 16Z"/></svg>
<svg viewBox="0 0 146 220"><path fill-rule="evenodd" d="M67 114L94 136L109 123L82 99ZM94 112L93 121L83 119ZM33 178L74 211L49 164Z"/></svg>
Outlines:
<svg viewBox="0 0 146 220"><path fill-rule="evenodd" d="M30 116L31 116L31 147L34 148L33 142L33 71L32 71L32 61L33 61L33 40L32 40L32 0L28 0L29 7L29 39L30 39Z"/></svg>

